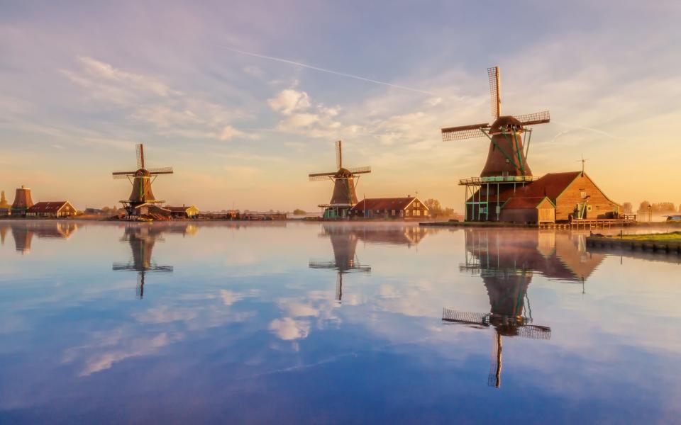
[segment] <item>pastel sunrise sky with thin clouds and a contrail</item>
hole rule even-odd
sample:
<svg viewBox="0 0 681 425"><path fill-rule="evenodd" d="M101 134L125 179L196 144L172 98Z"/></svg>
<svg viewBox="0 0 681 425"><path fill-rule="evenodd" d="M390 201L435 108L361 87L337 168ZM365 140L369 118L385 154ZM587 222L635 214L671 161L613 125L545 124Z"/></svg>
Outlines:
<svg viewBox="0 0 681 425"><path fill-rule="evenodd" d="M485 139L440 129L549 110L536 176L586 171L619 203L681 203L677 1L0 1L0 188L114 205L111 171L173 166L157 198L202 210L319 210L358 196L463 210Z"/></svg>

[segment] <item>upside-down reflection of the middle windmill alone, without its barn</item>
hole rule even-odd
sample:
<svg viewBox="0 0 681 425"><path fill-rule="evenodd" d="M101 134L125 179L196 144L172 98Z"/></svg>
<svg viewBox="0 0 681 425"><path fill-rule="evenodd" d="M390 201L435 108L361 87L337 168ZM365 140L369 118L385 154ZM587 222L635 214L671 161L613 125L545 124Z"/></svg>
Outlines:
<svg viewBox="0 0 681 425"><path fill-rule="evenodd" d="M352 271L369 273L370 266L363 266L357 258L358 235L344 227L324 226L321 236L331 238L333 261L310 261L310 268L336 270L336 301L343 302L343 275Z"/></svg>

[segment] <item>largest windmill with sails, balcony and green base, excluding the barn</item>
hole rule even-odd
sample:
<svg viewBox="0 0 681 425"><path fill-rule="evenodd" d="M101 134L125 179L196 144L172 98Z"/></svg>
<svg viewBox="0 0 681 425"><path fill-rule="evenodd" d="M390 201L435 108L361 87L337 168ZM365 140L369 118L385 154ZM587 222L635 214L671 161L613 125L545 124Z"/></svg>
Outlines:
<svg viewBox="0 0 681 425"><path fill-rule="evenodd" d="M487 68L487 75L489 94L492 98L494 119L492 124L479 123L441 129L445 142L475 137L489 139L487 161L480 177L459 181L460 186L466 186L466 220L499 220L500 205L495 195L504 190L508 184L524 185L536 180L527 163L532 137L530 126L550 122L548 111L526 115L502 115L499 67ZM495 203L497 208L494 212L489 208Z"/></svg>

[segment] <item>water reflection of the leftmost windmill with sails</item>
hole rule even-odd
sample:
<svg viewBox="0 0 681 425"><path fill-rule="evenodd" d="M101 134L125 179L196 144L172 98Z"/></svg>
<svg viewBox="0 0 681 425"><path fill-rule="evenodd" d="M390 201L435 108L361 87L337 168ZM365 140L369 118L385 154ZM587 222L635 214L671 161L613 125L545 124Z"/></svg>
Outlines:
<svg viewBox="0 0 681 425"><path fill-rule="evenodd" d="M140 300L144 297L144 283L147 273L171 273L172 266L159 266L152 258L154 244L162 242L164 232L186 233L185 227L167 228L155 225L130 225L125 228L121 242L128 242L133 251L132 261L127 263L114 263L114 271L136 271L137 272L137 297Z"/></svg>

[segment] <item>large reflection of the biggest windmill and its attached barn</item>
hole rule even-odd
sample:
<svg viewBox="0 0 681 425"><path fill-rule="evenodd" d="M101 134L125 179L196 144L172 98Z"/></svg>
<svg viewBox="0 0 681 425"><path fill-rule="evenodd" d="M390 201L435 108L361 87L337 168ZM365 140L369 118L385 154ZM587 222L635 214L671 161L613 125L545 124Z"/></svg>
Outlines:
<svg viewBox="0 0 681 425"><path fill-rule="evenodd" d="M583 283L603 261L589 254L584 235L504 229L467 229L466 261L461 271L482 278L489 297L489 312L443 310L443 322L477 329L494 328L494 351L488 384L502 382L503 337L550 339L550 327L533 324L528 286L534 274L567 283Z"/></svg>

